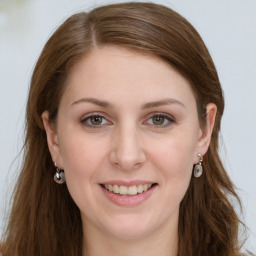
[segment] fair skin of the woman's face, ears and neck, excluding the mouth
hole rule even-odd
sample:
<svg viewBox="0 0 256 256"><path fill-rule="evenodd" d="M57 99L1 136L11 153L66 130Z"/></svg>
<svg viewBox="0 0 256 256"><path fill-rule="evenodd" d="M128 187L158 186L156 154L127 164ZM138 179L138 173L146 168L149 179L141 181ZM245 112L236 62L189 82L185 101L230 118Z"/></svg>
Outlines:
<svg viewBox="0 0 256 256"><path fill-rule="evenodd" d="M159 113L173 121L155 122ZM52 159L81 211L84 254L177 255L179 205L197 154L208 149L216 106L208 104L207 113L202 130L189 82L156 57L104 46L73 67L57 125L47 111L42 119ZM92 127L93 114L104 117L101 125ZM157 185L141 204L119 206L99 185L113 180Z"/></svg>

